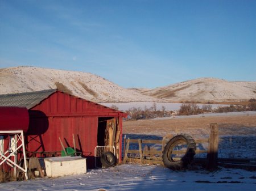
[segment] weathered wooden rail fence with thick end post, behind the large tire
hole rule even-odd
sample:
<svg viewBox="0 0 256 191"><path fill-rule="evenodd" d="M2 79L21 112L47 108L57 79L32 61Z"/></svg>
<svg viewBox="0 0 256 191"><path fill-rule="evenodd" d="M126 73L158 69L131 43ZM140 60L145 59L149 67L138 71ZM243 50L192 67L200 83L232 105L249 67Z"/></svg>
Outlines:
<svg viewBox="0 0 256 191"><path fill-rule="evenodd" d="M130 139L124 140L124 158L123 163L135 162L142 164L163 164L162 153L166 143L170 141L172 137L163 137L162 140L152 140L152 139ZM207 153L208 168L214 169L217 167L217 153L218 153L218 124L210 124L210 137L204 139L195 140L197 149L196 154ZM131 143L137 143L139 150L129 149ZM200 150L198 147L201 143L208 143L208 149ZM144 149L142 149L142 144L146 144ZM156 150L155 148L148 147L147 144L155 144L162 146L161 150ZM186 150L172 151L172 154L183 155ZM129 155L130 154L130 155Z"/></svg>

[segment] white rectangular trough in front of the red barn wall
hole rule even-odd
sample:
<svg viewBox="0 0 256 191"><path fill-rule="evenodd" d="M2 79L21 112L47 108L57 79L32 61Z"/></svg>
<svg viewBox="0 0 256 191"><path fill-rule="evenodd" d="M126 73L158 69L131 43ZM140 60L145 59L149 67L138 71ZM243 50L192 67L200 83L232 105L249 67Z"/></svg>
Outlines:
<svg viewBox="0 0 256 191"><path fill-rule="evenodd" d="M61 156L45 158L46 175L59 177L86 173L86 158L81 156Z"/></svg>

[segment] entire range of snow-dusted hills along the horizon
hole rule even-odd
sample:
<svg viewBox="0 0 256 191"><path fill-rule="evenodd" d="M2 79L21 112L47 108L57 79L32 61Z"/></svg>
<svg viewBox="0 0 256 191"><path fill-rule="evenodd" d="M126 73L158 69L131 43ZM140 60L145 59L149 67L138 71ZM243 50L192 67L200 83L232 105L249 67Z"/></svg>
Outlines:
<svg viewBox="0 0 256 191"><path fill-rule="evenodd" d="M58 88L96 102L222 102L256 98L256 82L229 82L217 78L199 78L169 86L122 88L107 79L79 71L10 67L0 69L0 94Z"/></svg>

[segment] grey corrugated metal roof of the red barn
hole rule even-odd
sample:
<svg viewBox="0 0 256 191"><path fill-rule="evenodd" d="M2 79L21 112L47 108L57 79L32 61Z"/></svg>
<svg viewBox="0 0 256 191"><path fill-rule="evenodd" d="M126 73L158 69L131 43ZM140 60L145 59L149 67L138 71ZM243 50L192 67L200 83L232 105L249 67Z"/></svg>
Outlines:
<svg viewBox="0 0 256 191"><path fill-rule="evenodd" d="M27 109L30 109L35 105L38 105L41 101L43 101L49 95L53 94L56 91L56 89L51 89L19 94L0 95L0 106L26 107Z"/></svg>

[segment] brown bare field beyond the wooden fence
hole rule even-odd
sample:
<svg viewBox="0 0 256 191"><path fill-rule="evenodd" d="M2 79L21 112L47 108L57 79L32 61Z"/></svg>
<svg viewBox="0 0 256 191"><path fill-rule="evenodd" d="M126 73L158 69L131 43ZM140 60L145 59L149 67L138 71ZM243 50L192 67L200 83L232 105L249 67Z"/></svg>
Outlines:
<svg viewBox="0 0 256 191"><path fill-rule="evenodd" d="M123 122L123 134L164 136L188 133L194 138L203 138L209 137L210 123L218 123L219 135L256 135L256 114L125 121Z"/></svg>

